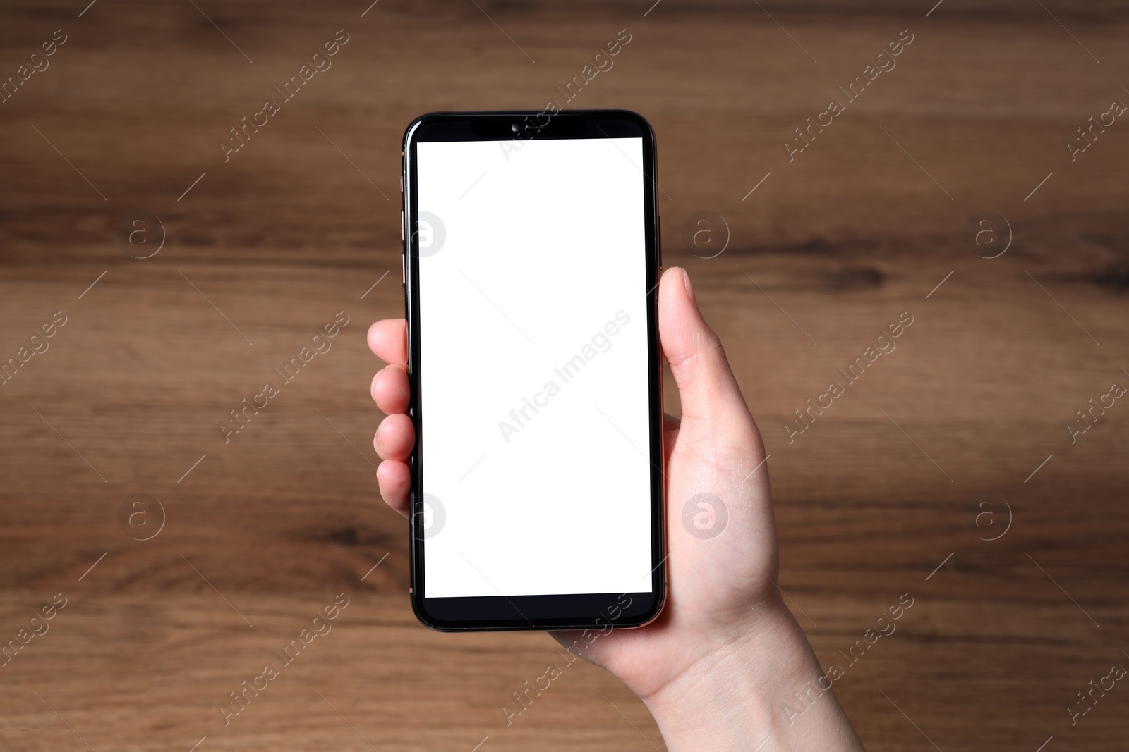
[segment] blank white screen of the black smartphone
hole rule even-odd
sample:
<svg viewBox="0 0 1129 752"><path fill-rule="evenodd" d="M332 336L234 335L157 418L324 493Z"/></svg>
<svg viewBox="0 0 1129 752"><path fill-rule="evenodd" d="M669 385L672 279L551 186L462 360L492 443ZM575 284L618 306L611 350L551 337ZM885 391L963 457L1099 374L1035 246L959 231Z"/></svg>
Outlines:
<svg viewBox="0 0 1129 752"><path fill-rule="evenodd" d="M651 590L641 167L641 139L417 144L425 596Z"/></svg>

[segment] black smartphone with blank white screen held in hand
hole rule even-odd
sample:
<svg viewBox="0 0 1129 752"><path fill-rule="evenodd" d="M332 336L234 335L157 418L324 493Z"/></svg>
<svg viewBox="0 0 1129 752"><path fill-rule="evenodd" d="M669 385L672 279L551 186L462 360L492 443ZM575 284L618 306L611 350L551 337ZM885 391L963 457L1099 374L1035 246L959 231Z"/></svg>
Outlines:
<svg viewBox="0 0 1129 752"><path fill-rule="evenodd" d="M655 136L627 110L404 134L412 607L639 627L666 593Z"/></svg>

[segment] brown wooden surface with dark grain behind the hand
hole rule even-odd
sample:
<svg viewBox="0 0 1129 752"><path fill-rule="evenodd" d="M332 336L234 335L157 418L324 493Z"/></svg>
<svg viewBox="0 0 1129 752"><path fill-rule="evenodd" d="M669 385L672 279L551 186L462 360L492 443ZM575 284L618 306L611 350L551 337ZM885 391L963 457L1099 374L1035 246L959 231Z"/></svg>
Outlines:
<svg viewBox="0 0 1129 752"><path fill-rule="evenodd" d="M581 663L507 727L555 644L415 622L364 340L402 311L406 123L541 108L622 28L574 105L655 126L665 263L690 268L764 433L781 586L824 664L916 599L835 683L868 749L1124 745L1129 688L1073 728L1067 707L1129 665L1129 405L1076 444L1065 426L1129 384L1129 121L1074 163L1065 144L1129 104L1126 3L85 5L0 21L3 77L68 34L0 104L0 357L68 317L0 386L0 640L68 599L0 667L0 747L663 749ZM225 163L228 129L339 28L333 67ZM898 67L789 163L791 130L905 28ZM717 258L682 240L702 211L732 232ZM1014 229L999 258L965 241L983 211ZM120 242L135 212L164 222L152 258ZM333 348L225 445L228 410L339 310ZM898 350L789 445L791 412L904 310ZM151 540L119 527L131 494L165 507ZM1001 498L1010 529L978 540ZM217 704L342 592L333 631L225 727Z"/></svg>

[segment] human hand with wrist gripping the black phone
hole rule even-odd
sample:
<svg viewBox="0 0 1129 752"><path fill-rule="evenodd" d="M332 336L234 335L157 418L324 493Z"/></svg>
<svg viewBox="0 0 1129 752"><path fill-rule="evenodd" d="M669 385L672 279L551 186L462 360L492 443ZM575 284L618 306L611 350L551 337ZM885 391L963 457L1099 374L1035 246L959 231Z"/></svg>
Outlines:
<svg viewBox="0 0 1129 752"><path fill-rule="evenodd" d="M861 750L830 685L824 691L819 684L815 656L780 599L764 445L681 268L667 269L660 281L658 326L682 401L681 421L667 417L664 432L666 607L639 629L594 639L592 630L552 635L623 680L651 709L672 750ZM368 342L388 363L371 384L387 414L374 437L384 460L377 480L385 502L406 516L406 461L415 439L405 414L406 322L377 321ZM697 512L699 494L724 505L720 532L683 525L683 507L689 503ZM796 702L796 692L811 702L802 706L803 719L781 710Z"/></svg>

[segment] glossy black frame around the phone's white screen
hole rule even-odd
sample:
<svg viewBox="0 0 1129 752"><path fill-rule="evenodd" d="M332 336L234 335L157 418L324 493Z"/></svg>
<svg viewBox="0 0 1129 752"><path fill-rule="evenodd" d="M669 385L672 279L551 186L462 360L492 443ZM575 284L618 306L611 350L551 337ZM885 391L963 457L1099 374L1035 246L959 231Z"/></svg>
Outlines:
<svg viewBox="0 0 1129 752"><path fill-rule="evenodd" d="M651 465L651 590L637 593L423 598L423 458L420 390L419 233L415 145L425 141L530 141L539 139L641 138L646 232L648 404ZM412 609L440 631L495 629L589 629L640 627L655 619L666 600L665 478L663 476L663 371L658 340L658 278L662 271L656 198L655 134L642 116L624 109L548 112L430 113L412 121L403 142L404 309L408 319L409 415L415 425L412 476ZM598 176L593 176L598 182ZM567 260L567 259L562 259ZM598 273L598 269L593 269ZM581 551L581 555L589 555ZM624 602L625 601L625 602Z"/></svg>

